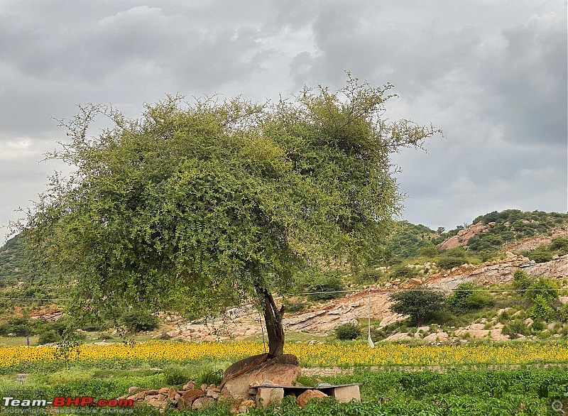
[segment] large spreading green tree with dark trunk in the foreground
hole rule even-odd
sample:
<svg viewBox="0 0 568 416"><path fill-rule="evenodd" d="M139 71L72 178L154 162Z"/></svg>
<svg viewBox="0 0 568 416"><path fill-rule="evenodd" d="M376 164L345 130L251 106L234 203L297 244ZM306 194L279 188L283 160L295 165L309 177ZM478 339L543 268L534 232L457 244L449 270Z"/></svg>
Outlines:
<svg viewBox="0 0 568 416"><path fill-rule="evenodd" d="M293 99L167 97L139 119L82 106L23 228L36 266L72 279L77 310L218 312L258 300L269 356L283 354L272 293L324 261L364 263L400 202L390 155L432 126L383 119L391 85L348 75ZM89 136L94 117L112 127Z"/></svg>

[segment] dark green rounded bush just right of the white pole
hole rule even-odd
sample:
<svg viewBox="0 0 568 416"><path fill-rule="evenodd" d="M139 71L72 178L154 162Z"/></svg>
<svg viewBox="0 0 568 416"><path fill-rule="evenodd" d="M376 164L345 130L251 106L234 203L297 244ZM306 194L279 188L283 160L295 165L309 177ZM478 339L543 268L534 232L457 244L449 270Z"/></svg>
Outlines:
<svg viewBox="0 0 568 416"><path fill-rule="evenodd" d="M417 326L436 316L444 308L444 293L425 286L413 290L395 292L391 295L391 311L410 315Z"/></svg>

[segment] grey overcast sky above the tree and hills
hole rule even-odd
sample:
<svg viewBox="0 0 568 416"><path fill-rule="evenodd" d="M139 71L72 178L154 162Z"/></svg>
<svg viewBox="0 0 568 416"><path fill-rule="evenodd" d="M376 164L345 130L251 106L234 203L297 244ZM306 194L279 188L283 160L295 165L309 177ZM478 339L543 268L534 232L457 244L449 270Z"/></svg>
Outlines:
<svg viewBox="0 0 568 416"><path fill-rule="evenodd" d="M76 104L264 101L344 70L395 85L389 119L444 131L395 155L408 221L567 212L566 1L0 0L0 224L60 168L38 161Z"/></svg>

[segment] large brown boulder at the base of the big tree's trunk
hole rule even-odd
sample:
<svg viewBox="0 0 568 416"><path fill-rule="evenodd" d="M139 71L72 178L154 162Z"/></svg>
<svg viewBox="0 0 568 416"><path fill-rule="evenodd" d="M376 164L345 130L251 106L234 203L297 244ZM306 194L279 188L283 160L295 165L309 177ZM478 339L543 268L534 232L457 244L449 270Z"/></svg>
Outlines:
<svg viewBox="0 0 568 416"><path fill-rule="evenodd" d="M226 369L221 385L223 395L235 400L249 397L249 386L255 381L270 380L277 385L292 385L300 376L300 363L292 354L272 359L267 354L251 356L237 361Z"/></svg>

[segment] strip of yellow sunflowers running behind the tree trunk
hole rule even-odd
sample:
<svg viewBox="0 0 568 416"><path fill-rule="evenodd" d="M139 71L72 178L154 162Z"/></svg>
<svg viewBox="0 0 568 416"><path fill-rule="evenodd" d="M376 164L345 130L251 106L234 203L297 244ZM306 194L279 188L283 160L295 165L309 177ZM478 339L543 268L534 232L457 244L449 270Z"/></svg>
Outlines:
<svg viewBox="0 0 568 416"><path fill-rule="evenodd" d="M6 346L0 348L0 366L37 361L87 361L105 358L187 361L202 358L236 360L261 354L258 342L188 343L148 341L141 344L83 344L73 348L56 346ZM568 363L568 345L466 344L421 345L379 344L370 348L360 342L340 344L289 343L285 353L295 354L302 366L460 366L476 364Z"/></svg>

